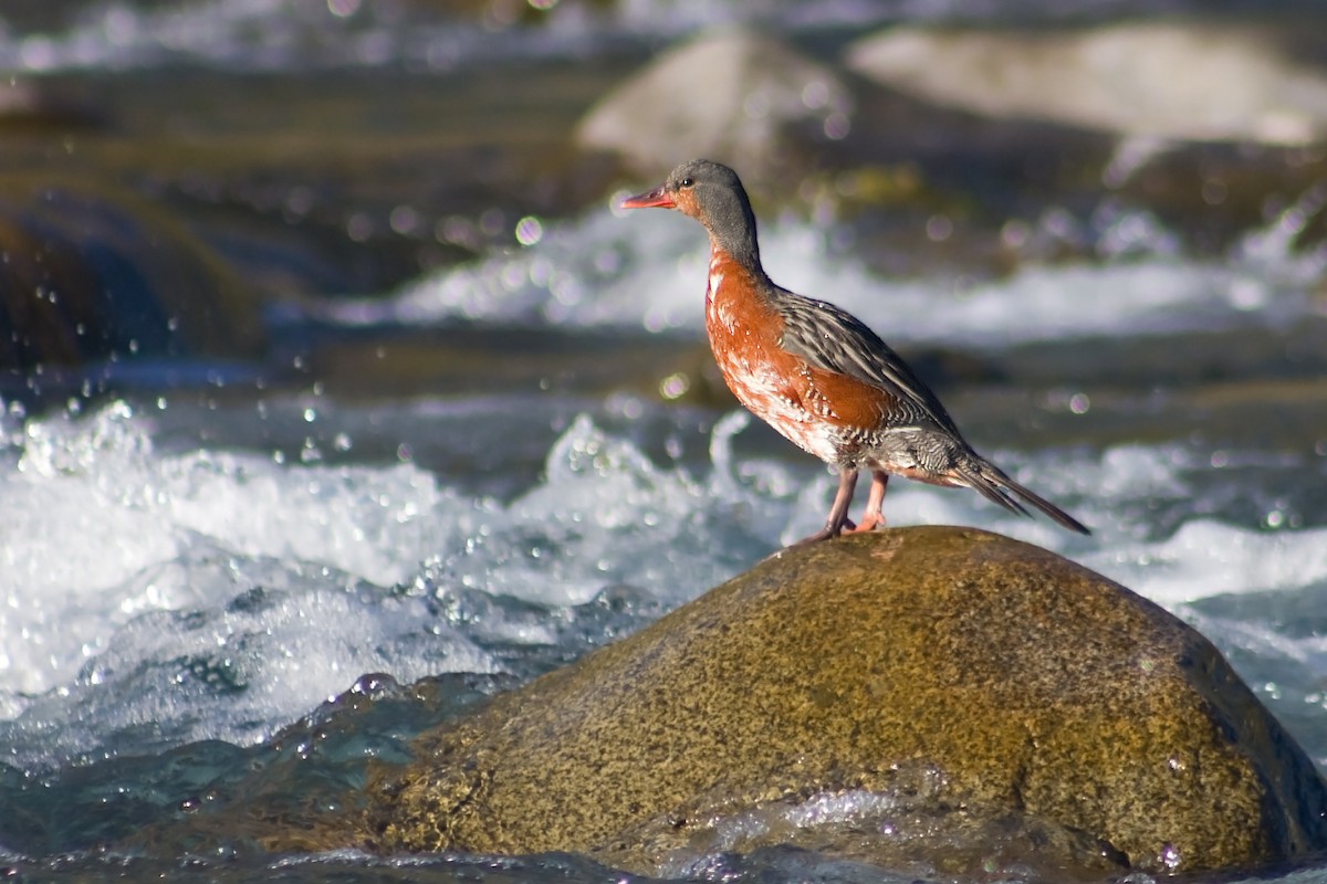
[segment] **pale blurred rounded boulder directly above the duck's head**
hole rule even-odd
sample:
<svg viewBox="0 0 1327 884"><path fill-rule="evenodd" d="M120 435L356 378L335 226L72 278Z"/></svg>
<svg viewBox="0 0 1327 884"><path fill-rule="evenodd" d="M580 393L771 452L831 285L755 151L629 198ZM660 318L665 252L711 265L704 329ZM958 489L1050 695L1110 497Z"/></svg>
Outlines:
<svg viewBox="0 0 1327 884"><path fill-rule="evenodd" d="M758 175L798 127L837 139L852 98L828 68L774 37L734 29L662 53L605 95L576 129L587 150L620 154L641 174L711 156Z"/></svg>

